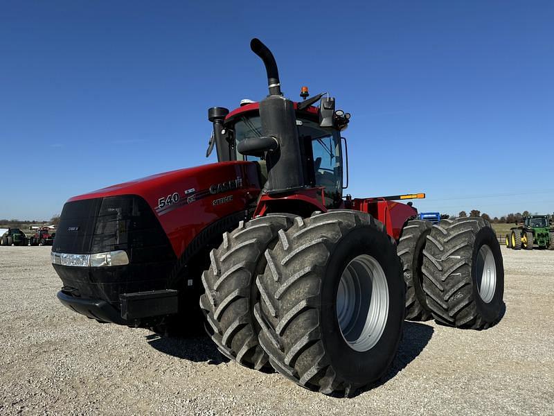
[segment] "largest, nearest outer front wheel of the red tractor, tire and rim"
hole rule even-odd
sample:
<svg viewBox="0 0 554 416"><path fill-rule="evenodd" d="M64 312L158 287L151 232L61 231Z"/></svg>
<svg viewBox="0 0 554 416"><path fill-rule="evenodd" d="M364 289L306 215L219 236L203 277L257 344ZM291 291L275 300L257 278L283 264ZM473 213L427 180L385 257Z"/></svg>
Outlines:
<svg viewBox="0 0 554 416"><path fill-rule="evenodd" d="M297 217L265 256L254 313L274 369L326 395L379 380L405 311L402 265L383 224L353 210Z"/></svg>

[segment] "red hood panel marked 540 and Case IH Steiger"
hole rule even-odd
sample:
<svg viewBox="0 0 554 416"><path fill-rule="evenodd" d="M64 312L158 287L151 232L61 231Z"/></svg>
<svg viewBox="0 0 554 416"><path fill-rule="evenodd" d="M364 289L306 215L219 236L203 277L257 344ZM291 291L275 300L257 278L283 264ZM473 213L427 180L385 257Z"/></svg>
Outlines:
<svg viewBox="0 0 554 416"><path fill-rule="evenodd" d="M141 196L168 235L177 257L207 225L247 209L260 193L254 162L221 162L159 173L84 193L68 202L118 195Z"/></svg>

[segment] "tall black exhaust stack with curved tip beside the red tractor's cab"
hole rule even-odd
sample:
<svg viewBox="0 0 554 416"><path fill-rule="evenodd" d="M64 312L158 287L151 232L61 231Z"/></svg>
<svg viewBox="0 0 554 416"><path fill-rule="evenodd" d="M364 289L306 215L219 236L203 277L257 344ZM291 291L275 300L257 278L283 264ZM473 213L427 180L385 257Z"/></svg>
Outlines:
<svg viewBox="0 0 554 416"><path fill-rule="evenodd" d="M301 149L296 130L294 104L283 96L279 71L273 53L258 39L250 48L265 64L269 96L260 101L260 119L264 137L245 139L237 150L243 155L265 155L267 193L282 193L306 186Z"/></svg>

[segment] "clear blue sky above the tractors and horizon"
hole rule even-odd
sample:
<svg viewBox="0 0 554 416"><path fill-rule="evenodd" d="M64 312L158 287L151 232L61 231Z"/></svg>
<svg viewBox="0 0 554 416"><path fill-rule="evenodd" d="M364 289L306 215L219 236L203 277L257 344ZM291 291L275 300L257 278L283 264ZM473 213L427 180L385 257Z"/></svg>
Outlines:
<svg viewBox="0 0 554 416"><path fill-rule="evenodd" d="M352 113L353 196L554 211L553 2L241 4L0 1L0 218L206 163L208 107L267 94L251 37Z"/></svg>

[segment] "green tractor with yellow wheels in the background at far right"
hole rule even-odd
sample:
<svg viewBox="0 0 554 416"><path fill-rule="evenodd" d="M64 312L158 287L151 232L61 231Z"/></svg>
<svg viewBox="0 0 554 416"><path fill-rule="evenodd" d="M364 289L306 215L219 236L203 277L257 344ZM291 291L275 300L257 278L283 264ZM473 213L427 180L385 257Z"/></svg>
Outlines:
<svg viewBox="0 0 554 416"><path fill-rule="evenodd" d="M548 215L531 215L524 218L524 225L510 228L506 234L506 247L514 250L539 248L554 250L554 229Z"/></svg>

